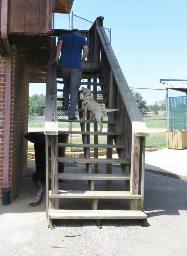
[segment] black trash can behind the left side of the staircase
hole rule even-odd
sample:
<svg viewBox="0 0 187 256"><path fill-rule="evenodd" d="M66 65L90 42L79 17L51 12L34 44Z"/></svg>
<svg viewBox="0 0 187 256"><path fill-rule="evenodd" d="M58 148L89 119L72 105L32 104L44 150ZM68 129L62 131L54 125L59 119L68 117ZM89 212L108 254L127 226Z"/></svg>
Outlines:
<svg viewBox="0 0 187 256"><path fill-rule="evenodd" d="M30 132L25 134L25 138L34 143L36 172L42 172L45 180L46 171L46 148L44 132ZM68 134L58 131L58 142L67 143ZM50 150L49 150L50 154ZM58 156L65 157L65 147L58 148ZM58 163L58 172L64 172L64 163Z"/></svg>

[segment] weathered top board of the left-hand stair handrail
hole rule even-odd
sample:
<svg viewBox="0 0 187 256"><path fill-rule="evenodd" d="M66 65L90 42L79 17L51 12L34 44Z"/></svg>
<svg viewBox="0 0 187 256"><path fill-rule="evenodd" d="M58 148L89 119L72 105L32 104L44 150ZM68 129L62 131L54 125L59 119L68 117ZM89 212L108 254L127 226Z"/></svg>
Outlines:
<svg viewBox="0 0 187 256"><path fill-rule="evenodd" d="M57 88L55 59L56 38L51 38L50 58L47 64L45 132L46 135L58 135Z"/></svg>

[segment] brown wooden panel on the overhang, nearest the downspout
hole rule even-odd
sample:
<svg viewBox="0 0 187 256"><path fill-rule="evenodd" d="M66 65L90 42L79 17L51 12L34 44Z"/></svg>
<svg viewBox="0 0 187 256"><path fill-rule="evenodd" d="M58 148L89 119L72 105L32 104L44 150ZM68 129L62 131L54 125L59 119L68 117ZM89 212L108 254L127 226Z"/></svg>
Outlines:
<svg viewBox="0 0 187 256"><path fill-rule="evenodd" d="M25 29L25 0L10 3L10 32L24 32Z"/></svg>

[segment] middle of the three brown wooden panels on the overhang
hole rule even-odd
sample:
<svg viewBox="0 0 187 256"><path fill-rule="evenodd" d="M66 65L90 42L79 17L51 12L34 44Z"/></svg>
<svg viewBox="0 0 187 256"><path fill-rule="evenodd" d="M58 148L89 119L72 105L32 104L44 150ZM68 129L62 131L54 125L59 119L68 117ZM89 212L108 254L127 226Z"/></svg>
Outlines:
<svg viewBox="0 0 187 256"><path fill-rule="evenodd" d="M25 32L39 33L40 1L25 2Z"/></svg>

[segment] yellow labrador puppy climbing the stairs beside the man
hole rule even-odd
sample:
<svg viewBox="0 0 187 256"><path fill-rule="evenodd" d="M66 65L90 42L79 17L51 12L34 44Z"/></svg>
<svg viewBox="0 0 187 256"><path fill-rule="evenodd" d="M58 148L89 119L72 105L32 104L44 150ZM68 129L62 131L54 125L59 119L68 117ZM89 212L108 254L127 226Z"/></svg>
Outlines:
<svg viewBox="0 0 187 256"><path fill-rule="evenodd" d="M91 97L91 91L88 88L82 87L82 92L84 95L84 101L83 101L83 106L84 106L84 117L81 118L80 120L85 120L87 111L89 110L91 112L90 120L93 120L93 116L95 114L95 120L98 122L100 125L100 129L98 132L101 132L103 129L103 123L101 122L103 112L113 112L113 111L120 111L118 108L113 108L113 109L106 109L100 106L97 102L94 101Z"/></svg>

